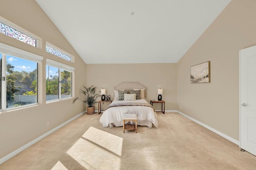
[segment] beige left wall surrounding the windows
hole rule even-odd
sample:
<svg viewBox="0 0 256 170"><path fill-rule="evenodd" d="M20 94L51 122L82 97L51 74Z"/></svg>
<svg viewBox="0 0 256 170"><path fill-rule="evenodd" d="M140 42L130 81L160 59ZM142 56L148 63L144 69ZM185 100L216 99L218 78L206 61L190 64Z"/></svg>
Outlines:
<svg viewBox="0 0 256 170"><path fill-rule="evenodd" d="M86 71L86 65L34 0L26 0L25 3L20 0L2 1L0 16L40 37L43 49L32 47L0 33L1 43L44 57L39 66L40 104L29 108L0 112L0 158L2 158L85 110L85 105L82 103L72 104L73 99L46 104L46 58L75 67L75 89L80 89L85 84L85 75L82 74L83 78L80 75ZM47 53L45 51L46 41L74 55L75 63L64 61ZM80 93L76 90L75 96L78 95ZM46 121L50 122L48 127L46 127Z"/></svg>

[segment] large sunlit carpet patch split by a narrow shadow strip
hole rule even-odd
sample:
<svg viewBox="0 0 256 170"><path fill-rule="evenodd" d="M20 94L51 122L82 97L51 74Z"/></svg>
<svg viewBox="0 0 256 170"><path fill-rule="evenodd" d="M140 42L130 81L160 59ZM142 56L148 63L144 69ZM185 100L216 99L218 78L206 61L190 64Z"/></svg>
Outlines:
<svg viewBox="0 0 256 170"><path fill-rule="evenodd" d="M119 169L123 139L90 127L68 150L74 160L86 169Z"/></svg>

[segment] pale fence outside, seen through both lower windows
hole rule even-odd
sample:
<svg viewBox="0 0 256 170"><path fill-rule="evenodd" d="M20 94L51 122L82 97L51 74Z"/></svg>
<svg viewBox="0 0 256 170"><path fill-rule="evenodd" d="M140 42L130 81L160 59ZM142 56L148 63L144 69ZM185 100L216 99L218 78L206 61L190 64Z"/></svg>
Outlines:
<svg viewBox="0 0 256 170"><path fill-rule="evenodd" d="M46 95L46 101L49 100L56 100L59 98L59 95ZM61 98L71 98L71 95L61 95ZM31 102L36 103L37 102L37 96L36 95L18 95L14 96L15 102Z"/></svg>

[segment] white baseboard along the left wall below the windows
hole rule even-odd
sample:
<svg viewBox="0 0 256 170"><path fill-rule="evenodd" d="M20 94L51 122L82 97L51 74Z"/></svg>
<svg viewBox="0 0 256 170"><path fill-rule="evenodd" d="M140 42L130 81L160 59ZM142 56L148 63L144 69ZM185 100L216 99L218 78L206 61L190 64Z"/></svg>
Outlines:
<svg viewBox="0 0 256 170"><path fill-rule="evenodd" d="M62 123L61 125L55 127L54 129L48 131L47 133L44 133L44 135L42 135L42 136L40 136L40 137L34 139L34 140L31 141L30 143L27 143L26 145L20 147L19 149L14 150L14 151L11 152L10 154L4 156L3 158L0 159L0 164L4 163L6 160L12 158L12 157L15 156L16 154L18 154L18 153L22 152L23 150L27 149L27 148L30 147L31 145L34 145L35 143L37 143L38 141L40 141L40 140L43 139L44 137L50 135L52 132L54 132L54 131L60 129L62 126L68 124L69 122L71 122L72 120L78 118L79 116L81 116L81 115L84 114L84 113L85 113L85 111L82 112L82 113L80 113L80 114L78 114L78 115L76 115L75 117L69 119L68 121Z"/></svg>

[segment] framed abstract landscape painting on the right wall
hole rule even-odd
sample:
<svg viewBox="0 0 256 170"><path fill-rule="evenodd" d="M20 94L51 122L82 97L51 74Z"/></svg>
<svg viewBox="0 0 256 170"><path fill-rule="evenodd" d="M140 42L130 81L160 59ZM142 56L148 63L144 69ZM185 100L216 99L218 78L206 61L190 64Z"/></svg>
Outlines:
<svg viewBox="0 0 256 170"><path fill-rule="evenodd" d="M210 61L190 67L190 83L210 82Z"/></svg>

